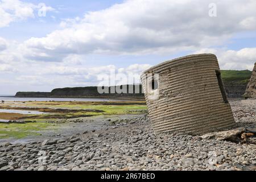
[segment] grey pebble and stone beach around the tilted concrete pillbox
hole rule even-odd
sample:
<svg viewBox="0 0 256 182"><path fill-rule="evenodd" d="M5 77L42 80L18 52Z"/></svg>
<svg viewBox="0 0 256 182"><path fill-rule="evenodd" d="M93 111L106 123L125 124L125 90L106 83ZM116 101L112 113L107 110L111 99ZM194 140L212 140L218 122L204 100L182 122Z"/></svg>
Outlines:
<svg viewBox="0 0 256 182"><path fill-rule="evenodd" d="M255 134L256 100L232 100L230 105L237 127ZM1 143L0 170L256 170L254 136L243 141L240 135L230 140L155 134L146 114L108 121L75 135Z"/></svg>

